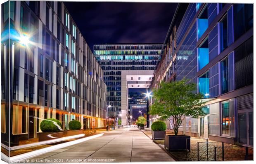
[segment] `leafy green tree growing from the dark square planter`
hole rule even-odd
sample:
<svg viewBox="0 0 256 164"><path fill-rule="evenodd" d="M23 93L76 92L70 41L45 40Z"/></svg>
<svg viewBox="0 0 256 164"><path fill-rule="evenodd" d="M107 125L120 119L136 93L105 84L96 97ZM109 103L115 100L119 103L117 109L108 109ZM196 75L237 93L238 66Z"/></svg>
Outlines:
<svg viewBox="0 0 256 164"><path fill-rule="evenodd" d="M195 94L197 85L188 83L188 80L162 82L159 88L153 90L153 98L155 99L150 106L149 114L159 115L167 118L171 122L174 134L178 135L178 129L185 119L185 116L198 118L205 115L201 108L204 104L201 93Z"/></svg>

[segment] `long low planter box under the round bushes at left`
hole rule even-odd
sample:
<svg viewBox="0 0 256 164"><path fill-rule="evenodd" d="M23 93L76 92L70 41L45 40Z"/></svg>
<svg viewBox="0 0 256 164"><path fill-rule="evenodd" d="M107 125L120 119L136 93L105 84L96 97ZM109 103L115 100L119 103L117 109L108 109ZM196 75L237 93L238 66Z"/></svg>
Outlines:
<svg viewBox="0 0 256 164"><path fill-rule="evenodd" d="M79 130L66 130L66 131L62 131L62 132L42 132L42 133L38 133L38 140L40 141L47 141L47 140L51 140L51 139L56 139L56 138L51 138L48 135L51 135L53 137L56 138L62 138L62 137L66 137L66 136L74 136L74 135L78 135L78 134L83 134L83 129L79 129Z"/></svg>

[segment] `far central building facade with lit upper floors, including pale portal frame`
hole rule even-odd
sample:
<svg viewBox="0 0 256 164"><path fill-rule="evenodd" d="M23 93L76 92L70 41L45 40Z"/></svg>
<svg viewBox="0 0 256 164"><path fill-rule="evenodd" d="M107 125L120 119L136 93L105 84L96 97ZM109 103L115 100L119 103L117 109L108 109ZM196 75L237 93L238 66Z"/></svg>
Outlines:
<svg viewBox="0 0 256 164"><path fill-rule="evenodd" d="M104 71L108 116L128 125L128 88L149 88L162 44L97 44L94 55Z"/></svg>

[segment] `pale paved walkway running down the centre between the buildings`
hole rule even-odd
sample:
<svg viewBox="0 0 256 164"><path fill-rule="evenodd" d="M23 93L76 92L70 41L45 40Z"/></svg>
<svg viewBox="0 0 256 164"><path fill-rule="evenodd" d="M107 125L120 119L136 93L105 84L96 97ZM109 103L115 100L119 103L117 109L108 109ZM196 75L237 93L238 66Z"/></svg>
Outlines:
<svg viewBox="0 0 256 164"><path fill-rule="evenodd" d="M83 143L29 159L37 163L174 161L139 129L116 129Z"/></svg>

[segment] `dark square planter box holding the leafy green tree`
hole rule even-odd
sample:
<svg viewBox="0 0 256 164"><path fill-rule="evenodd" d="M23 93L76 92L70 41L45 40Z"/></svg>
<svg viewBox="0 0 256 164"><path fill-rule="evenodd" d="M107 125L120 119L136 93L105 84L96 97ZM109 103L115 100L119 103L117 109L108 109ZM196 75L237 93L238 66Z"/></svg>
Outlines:
<svg viewBox="0 0 256 164"><path fill-rule="evenodd" d="M187 143L187 146L186 146ZM190 151L190 136L186 135L165 135L164 147L171 150L189 150Z"/></svg>

